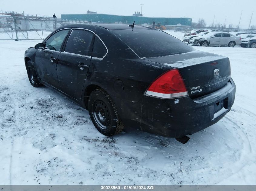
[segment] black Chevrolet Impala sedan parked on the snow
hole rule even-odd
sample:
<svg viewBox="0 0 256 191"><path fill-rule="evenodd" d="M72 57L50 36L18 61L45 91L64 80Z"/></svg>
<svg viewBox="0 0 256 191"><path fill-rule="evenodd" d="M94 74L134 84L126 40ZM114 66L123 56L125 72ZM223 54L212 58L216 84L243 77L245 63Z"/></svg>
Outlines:
<svg viewBox="0 0 256 191"><path fill-rule="evenodd" d="M107 136L129 126L185 143L235 98L228 58L138 25L62 26L25 51L25 66L32 86L88 109Z"/></svg>

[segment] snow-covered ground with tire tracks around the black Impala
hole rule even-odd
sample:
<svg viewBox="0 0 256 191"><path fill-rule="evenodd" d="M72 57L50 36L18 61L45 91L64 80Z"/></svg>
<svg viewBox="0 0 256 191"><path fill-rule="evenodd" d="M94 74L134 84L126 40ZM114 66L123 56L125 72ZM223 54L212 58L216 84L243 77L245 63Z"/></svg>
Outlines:
<svg viewBox="0 0 256 191"><path fill-rule="evenodd" d="M32 87L23 55L36 43L0 40L0 185L256 184L256 49L194 47L230 58L237 91L223 119L182 145L136 130L105 137L86 110Z"/></svg>

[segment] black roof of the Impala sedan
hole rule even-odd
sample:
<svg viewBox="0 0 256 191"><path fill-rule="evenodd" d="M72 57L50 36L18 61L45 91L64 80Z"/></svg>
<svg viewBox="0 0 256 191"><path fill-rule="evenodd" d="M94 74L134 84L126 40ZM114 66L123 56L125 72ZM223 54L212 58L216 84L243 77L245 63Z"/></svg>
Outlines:
<svg viewBox="0 0 256 191"><path fill-rule="evenodd" d="M140 25L134 25L134 27L130 27L129 24L105 24L105 23L98 23L98 24L69 24L64 25L60 28L84 28L88 29L92 26L105 28L107 30L122 30L122 29L150 29L149 27L143 27Z"/></svg>

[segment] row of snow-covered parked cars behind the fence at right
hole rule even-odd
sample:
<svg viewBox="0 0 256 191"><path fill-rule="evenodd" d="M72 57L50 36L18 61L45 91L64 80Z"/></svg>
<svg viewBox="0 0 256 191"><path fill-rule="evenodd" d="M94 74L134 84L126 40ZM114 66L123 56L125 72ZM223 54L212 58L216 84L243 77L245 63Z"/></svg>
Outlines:
<svg viewBox="0 0 256 191"><path fill-rule="evenodd" d="M221 32L215 29L191 30L184 35L184 42L198 46L228 46L256 48L256 32Z"/></svg>

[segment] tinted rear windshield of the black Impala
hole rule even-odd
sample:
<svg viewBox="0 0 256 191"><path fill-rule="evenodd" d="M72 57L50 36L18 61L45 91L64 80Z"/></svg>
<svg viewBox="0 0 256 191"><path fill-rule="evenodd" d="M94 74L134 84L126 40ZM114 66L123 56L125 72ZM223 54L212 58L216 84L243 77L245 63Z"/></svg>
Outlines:
<svg viewBox="0 0 256 191"><path fill-rule="evenodd" d="M151 29L112 30L140 58L167 56L191 52L193 49L175 37Z"/></svg>

